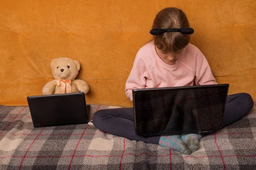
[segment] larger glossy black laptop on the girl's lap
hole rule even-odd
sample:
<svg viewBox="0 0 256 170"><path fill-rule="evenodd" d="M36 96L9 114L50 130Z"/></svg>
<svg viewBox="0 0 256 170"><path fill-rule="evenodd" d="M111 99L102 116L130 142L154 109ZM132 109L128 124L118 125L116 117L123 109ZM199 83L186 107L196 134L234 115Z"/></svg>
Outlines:
<svg viewBox="0 0 256 170"><path fill-rule="evenodd" d="M134 89L139 136L212 133L221 128L229 84Z"/></svg>

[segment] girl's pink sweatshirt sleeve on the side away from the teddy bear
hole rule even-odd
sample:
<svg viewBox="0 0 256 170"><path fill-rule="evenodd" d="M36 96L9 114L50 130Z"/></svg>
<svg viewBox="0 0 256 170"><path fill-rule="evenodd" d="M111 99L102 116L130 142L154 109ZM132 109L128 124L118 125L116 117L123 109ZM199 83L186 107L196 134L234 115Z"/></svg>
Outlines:
<svg viewBox="0 0 256 170"><path fill-rule="evenodd" d="M196 56L195 85L218 84L212 74L211 68L204 54L199 52Z"/></svg>

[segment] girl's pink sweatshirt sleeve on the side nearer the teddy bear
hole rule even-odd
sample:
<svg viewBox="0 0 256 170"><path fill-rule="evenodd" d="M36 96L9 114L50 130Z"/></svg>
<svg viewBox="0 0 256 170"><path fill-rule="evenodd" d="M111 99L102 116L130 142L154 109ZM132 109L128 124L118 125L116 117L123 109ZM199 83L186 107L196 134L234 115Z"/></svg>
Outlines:
<svg viewBox="0 0 256 170"><path fill-rule="evenodd" d="M140 52L140 51L139 51ZM132 90L138 88L145 88L146 78L148 77L148 71L146 70L145 64L141 58L141 54L137 53L134 64L131 69L131 73L125 84L125 94L128 99L133 100Z"/></svg>

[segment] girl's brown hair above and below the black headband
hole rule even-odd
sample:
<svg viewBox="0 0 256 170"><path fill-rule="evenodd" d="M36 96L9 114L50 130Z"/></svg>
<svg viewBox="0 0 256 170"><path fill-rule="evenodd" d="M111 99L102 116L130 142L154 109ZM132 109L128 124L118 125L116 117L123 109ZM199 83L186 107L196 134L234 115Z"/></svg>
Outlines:
<svg viewBox="0 0 256 170"><path fill-rule="evenodd" d="M184 28L189 27L186 14L178 8L164 8L154 19L152 28ZM154 45L163 52L177 52L189 44L190 35L180 32L166 32L153 36Z"/></svg>

